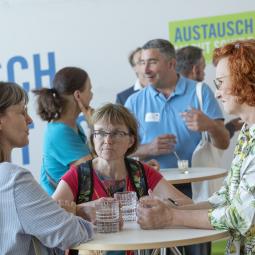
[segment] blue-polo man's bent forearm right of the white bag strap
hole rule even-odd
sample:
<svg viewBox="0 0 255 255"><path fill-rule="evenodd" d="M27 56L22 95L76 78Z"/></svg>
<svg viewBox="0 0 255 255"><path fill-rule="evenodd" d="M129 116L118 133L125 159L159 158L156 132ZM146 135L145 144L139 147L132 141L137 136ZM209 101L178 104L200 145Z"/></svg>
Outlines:
<svg viewBox="0 0 255 255"><path fill-rule="evenodd" d="M208 129L212 144L219 149L227 149L230 142L229 132L221 120L212 120L212 125Z"/></svg>

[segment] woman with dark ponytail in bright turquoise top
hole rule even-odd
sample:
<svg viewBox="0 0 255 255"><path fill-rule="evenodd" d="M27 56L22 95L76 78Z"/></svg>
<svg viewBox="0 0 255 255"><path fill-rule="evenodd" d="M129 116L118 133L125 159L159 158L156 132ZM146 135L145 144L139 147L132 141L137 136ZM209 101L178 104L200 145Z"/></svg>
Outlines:
<svg viewBox="0 0 255 255"><path fill-rule="evenodd" d="M91 158L77 117L81 112L89 115L93 94L88 74L77 67L62 68L56 73L51 89L42 88L34 93L38 96L38 114L48 121L40 183L51 195L71 164Z"/></svg>

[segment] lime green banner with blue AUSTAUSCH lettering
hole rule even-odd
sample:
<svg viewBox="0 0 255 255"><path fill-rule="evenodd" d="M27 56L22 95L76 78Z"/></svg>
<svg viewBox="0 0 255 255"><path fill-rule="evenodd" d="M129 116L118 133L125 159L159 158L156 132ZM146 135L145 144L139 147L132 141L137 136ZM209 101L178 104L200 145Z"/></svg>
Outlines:
<svg viewBox="0 0 255 255"><path fill-rule="evenodd" d="M255 38L255 11L169 22L169 38L176 49L194 45L211 63L214 48L237 39Z"/></svg>

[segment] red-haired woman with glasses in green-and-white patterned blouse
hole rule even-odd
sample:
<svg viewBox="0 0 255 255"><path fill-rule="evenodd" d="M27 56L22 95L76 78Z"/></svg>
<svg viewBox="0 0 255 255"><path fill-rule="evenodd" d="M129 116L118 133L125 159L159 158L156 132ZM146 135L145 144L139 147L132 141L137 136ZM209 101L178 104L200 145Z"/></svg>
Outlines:
<svg viewBox="0 0 255 255"><path fill-rule="evenodd" d="M216 97L228 114L244 122L224 185L206 204L170 208L144 200L138 209L142 228L185 226L228 230L226 254L255 254L255 40L214 50ZM153 210L148 205L153 203ZM201 209L201 208L206 209ZM200 208L200 210L199 210ZM157 220L158 215L161 215ZM151 222L154 224L152 225ZM157 223L155 223L157 222Z"/></svg>

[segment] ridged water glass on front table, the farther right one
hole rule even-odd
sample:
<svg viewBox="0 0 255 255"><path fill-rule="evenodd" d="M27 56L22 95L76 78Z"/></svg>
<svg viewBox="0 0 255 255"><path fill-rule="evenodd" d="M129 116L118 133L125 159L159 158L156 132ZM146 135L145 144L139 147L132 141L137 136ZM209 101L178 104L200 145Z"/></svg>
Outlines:
<svg viewBox="0 0 255 255"><path fill-rule="evenodd" d="M136 221L137 195L134 191L116 192L114 194L120 203L122 218L125 221Z"/></svg>

